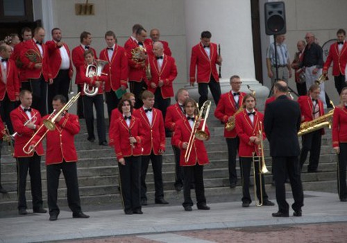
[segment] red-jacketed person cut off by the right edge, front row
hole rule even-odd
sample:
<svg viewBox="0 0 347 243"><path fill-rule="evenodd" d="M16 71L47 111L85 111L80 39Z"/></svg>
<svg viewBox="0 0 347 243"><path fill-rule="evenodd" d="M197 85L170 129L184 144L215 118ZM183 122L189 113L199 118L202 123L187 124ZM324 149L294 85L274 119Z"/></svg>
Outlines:
<svg viewBox="0 0 347 243"><path fill-rule="evenodd" d="M337 188L340 201L347 201L347 87L341 90L340 104L332 117L332 147L339 158L337 164Z"/></svg>

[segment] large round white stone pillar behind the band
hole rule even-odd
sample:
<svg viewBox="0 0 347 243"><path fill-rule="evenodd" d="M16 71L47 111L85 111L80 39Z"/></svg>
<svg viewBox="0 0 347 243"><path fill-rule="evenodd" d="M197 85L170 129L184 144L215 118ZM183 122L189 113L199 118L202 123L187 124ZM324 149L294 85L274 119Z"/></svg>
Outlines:
<svg viewBox="0 0 347 243"><path fill-rule="evenodd" d="M200 41L201 32L210 31L211 41L221 44L221 92L230 90L229 78L237 74L242 79L243 92L249 92L247 85L255 90L258 108L262 110L269 89L255 80L251 2L185 0L185 27L187 56L190 58L192 47ZM190 60L187 62L188 76L189 62ZM197 87L189 88L189 95L197 99Z"/></svg>

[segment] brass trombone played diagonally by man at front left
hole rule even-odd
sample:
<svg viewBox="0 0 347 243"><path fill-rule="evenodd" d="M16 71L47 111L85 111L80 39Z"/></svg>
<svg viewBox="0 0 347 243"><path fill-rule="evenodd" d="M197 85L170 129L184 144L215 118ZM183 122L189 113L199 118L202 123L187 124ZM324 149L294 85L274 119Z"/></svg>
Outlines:
<svg viewBox="0 0 347 243"><path fill-rule="evenodd" d="M56 110L53 110L53 112L51 113L51 115L49 115L49 117L47 119L44 119L44 121L42 121L42 125L37 129L36 133L33 134L33 136L31 137L30 140L28 140L28 142L24 145L23 147L23 152L26 154L30 154L33 153L33 151L35 151L35 148L38 146L38 144L40 144L40 142L42 142L42 140L44 139L44 137L46 137L46 134L49 131L54 131L56 129L56 119L62 115L63 112L65 112L66 110L69 110L69 108L72 106L72 104L77 101L78 97L80 97L81 92L78 92L78 94L76 94L74 97L72 97L69 102L67 102L65 104L65 106L63 106L58 112L56 112ZM56 113L56 115L54 115ZM54 115L54 116L53 116ZM44 134L40 137L40 139L35 142L35 144L31 144L31 142L33 142L35 136L40 133L41 129L46 127L46 132L44 132Z"/></svg>

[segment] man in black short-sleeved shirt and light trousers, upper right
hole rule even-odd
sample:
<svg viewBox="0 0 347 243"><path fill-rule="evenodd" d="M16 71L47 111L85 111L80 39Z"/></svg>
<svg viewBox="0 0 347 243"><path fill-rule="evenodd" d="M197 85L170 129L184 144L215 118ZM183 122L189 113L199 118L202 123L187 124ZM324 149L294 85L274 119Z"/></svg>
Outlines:
<svg viewBox="0 0 347 243"><path fill-rule="evenodd" d="M323 49L316 44L314 34L307 33L305 36L307 46L304 51L303 62L301 67L305 67L305 76L306 76L306 88L307 90L314 84L319 76L322 74L323 68ZM323 102L323 105L326 107L325 101L325 85L322 83L319 85L321 87L321 94L319 99Z"/></svg>

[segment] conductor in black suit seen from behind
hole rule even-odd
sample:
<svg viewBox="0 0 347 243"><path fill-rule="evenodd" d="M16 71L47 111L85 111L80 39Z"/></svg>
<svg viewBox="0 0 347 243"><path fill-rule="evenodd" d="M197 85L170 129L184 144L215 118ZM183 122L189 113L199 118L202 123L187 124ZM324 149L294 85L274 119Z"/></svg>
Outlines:
<svg viewBox="0 0 347 243"><path fill-rule="evenodd" d="M301 207L303 207L303 185L298 162L301 112L298 103L287 97L288 85L285 81L275 83L273 92L276 100L266 106L264 115L264 130L270 142L278 203L278 212L274 212L272 216L289 217L289 204L285 200L287 173L294 197L294 203L291 206L294 210L293 216L300 217Z"/></svg>

